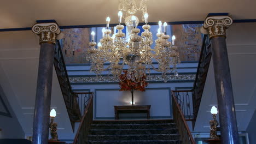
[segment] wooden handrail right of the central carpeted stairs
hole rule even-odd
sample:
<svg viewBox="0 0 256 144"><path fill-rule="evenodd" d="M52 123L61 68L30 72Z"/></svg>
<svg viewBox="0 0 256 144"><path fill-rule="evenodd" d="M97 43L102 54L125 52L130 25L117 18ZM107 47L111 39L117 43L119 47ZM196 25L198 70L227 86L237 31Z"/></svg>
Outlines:
<svg viewBox="0 0 256 144"><path fill-rule="evenodd" d="M179 135L181 135L181 139L183 143L191 143L195 144L194 138L191 135L191 132L189 130L188 124L185 120L185 117L183 115L183 112L178 104L178 101L176 97L174 96L174 92L172 91L172 110L173 110L173 117L174 120L176 121L178 130L179 130Z"/></svg>

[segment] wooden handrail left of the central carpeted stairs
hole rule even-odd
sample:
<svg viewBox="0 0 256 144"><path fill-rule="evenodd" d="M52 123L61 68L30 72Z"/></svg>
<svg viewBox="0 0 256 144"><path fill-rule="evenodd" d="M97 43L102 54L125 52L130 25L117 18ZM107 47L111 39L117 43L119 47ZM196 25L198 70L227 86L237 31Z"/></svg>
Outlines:
<svg viewBox="0 0 256 144"><path fill-rule="evenodd" d="M92 123L93 116L93 92L91 93L89 103L86 106L82 121L79 124L77 134L75 135L73 144L84 144L87 142L87 136L89 134L90 125Z"/></svg>

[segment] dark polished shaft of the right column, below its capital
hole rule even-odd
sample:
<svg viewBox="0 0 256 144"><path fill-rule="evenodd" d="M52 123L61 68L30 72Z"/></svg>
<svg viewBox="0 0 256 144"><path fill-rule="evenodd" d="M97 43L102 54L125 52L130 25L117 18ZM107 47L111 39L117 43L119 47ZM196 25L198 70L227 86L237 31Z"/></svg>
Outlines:
<svg viewBox="0 0 256 144"><path fill-rule="evenodd" d="M239 143L225 37L211 39L222 143Z"/></svg>

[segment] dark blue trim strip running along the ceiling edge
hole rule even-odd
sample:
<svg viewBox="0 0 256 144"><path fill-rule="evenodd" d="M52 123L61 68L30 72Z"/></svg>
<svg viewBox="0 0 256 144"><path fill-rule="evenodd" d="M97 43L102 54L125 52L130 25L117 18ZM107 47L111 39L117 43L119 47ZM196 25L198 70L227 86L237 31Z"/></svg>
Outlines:
<svg viewBox="0 0 256 144"><path fill-rule="evenodd" d="M234 23L243 23L243 22L256 22L256 19L245 19L245 20L233 20ZM185 25L185 24L202 24L203 21L174 21L174 22L167 22L168 25ZM158 25L158 22L149 22L149 25ZM110 24L109 26L116 26L115 24ZM139 25L144 25L144 23L139 23ZM105 27L106 25L77 25L77 26L60 26L61 29L66 28L90 28L90 27ZM31 27L24 27L24 28L3 28L0 29L0 32L7 32L7 31L30 31Z"/></svg>

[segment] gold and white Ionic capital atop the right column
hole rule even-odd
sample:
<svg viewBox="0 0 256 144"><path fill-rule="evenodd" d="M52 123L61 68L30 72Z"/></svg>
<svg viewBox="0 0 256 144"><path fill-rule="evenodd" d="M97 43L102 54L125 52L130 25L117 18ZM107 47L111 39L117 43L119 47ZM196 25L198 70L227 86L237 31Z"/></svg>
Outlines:
<svg viewBox="0 0 256 144"><path fill-rule="evenodd" d="M226 37L226 29L231 26L233 20L230 16L209 16L201 27L203 34L209 34L210 39L215 37Z"/></svg>

